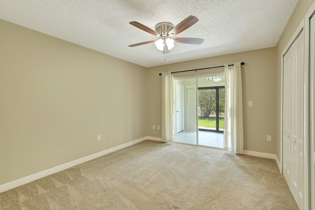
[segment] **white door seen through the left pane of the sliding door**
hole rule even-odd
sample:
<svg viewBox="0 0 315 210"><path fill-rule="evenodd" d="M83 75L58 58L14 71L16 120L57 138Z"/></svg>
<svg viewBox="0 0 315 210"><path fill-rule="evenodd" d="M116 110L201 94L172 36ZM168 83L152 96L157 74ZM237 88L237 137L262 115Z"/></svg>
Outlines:
<svg viewBox="0 0 315 210"><path fill-rule="evenodd" d="M176 84L176 133L184 130L184 86Z"/></svg>

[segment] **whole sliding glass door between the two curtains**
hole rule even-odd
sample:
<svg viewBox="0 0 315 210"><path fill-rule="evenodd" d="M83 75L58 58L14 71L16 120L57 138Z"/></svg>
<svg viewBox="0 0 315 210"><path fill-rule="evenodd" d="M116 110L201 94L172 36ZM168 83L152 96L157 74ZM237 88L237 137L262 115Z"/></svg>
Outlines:
<svg viewBox="0 0 315 210"><path fill-rule="evenodd" d="M174 141L223 148L224 75L174 80Z"/></svg>

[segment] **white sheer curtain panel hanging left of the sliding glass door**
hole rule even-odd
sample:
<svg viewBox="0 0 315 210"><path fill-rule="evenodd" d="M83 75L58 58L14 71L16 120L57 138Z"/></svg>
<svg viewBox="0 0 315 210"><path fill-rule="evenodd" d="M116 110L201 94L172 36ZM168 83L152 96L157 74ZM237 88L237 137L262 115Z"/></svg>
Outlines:
<svg viewBox="0 0 315 210"><path fill-rule="evenodd" d="M162 72L162 142L173 142L173 75Z"/></svg>

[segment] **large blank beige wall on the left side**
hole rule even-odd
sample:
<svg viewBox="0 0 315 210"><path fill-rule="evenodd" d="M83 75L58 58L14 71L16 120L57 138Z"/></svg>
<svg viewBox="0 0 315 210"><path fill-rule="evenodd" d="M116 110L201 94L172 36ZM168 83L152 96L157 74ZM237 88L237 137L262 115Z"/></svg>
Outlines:
<svg viewBox="0 0 315 210"><path fill-rule="evenodd" d="M144 67L0 29L0 185L146 136Z"/></svg>

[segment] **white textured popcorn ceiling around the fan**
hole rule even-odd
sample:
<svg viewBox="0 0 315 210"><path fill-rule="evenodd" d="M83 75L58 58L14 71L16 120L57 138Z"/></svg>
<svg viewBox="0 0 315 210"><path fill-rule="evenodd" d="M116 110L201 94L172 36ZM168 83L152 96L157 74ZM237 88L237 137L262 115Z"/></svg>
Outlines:
<svg viewBox="0 0 315 210"><path fill-rule="evenodd" d="M0 19L145 67L274 47L298 0L0 0ZM189 15L199 19L175 37L205 39L175 43L168 54L157 40L129 24L153 30L174 26ZM166 61L164 61L166 59Z"/></svg>

